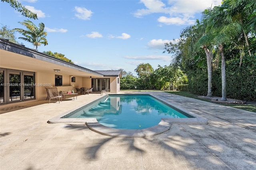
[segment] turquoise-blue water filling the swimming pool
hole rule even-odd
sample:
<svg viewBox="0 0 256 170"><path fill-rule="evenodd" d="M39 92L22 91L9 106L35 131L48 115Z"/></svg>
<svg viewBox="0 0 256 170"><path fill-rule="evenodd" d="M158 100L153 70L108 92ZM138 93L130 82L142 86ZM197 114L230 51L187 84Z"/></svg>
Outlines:
<svg viewBox="0 0 256 170"><path fill-rule="evenodd" d="M188 117L150 95L110 95L100 103L78 109L64 118L96 118L106 127L142 129L157 125L161 118Z"/></svg>

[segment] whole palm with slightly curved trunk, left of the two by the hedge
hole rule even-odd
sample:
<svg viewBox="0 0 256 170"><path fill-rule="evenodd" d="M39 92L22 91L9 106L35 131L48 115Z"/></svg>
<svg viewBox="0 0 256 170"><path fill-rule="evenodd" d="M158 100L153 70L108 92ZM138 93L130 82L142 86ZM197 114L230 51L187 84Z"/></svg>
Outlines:
<svg viewBox="0 0 256 170"><path fill-rule="evenodd" d="M168 53L174 53L174 64L183 65L183 62L193 60L201 48L204 49L207 60L208 71L208 91L207 96L212 96L212 51L208 49L207 45L211 46L210 36L205 34L206 25L199 20L196 20L196 24L184 28L180 34L178 43L166 43L165 51Z"/></svg>

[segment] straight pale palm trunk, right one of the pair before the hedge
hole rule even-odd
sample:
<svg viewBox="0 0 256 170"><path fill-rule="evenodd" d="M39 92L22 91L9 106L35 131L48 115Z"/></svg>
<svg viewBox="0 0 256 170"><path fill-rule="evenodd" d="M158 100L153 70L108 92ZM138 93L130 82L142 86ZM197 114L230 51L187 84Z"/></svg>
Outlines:
<svg viewBox="0 0 256 170"><path fill-rule="evenodd" d="M219 45L220 54L221 54L221 101L227 101L227 92L226 92L226 67L225 67L225 56L223 52L222 44Z"/></svg>

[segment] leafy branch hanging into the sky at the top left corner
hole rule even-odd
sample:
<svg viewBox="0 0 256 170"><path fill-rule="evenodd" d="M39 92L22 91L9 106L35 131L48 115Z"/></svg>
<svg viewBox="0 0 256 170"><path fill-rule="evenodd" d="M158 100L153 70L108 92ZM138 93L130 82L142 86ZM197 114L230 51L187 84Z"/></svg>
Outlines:
<svg viewBox="0 0 256 170"><path fill-rule="evenodd" d="M25 8L22 4L20 4L20 2L18 2L18 0L1 0L1 1L7 2L8 4L10 4L12 8L14 8L15 10L18 10L18 12L21 12L22 16L26 16L34 20L37 19L36 14L31 12L27 8Z"/></svg>

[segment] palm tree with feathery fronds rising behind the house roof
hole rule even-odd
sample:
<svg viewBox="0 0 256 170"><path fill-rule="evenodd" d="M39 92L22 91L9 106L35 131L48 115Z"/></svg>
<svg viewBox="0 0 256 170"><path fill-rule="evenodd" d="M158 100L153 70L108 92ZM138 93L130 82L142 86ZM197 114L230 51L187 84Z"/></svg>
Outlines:
<svg viewBox="0 0 256 170"><path fill-rule="evenodd" d="M48 42L46 40L47 32L44 31L44 24L41 22L39 24L39 28L36 27L36 25L31 22L30 20L24 20L24 22L18 22L24 26L28 30L23 30L21 28L15 28L15 31L18 31L25 37L19 37L19 39L25 40L27 42L30 42L36 47L40 46L41 44L48 45Z"/></svg>

